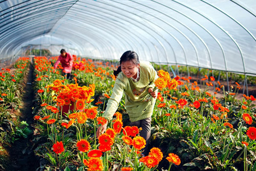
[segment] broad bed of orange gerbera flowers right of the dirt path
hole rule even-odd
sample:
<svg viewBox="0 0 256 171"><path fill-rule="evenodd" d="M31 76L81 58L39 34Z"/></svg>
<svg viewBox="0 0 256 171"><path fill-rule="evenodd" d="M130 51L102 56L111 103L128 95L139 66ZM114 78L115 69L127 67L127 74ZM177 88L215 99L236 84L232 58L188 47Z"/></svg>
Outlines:
<svg viewBox="0 0 256 171"><path fill-rule="evenodd" d="M145 141L139 128L123 121L122 102L109 129L96 138L96 129L106 121L102 114L115 82L114 66L75 58L70 81L61 76L61 68L53 73L56 59L34 60L39 100L35 140L46 137L35 141L35 153L49 161L45 168L255 169L255 99L244 95L237 100L238 83L226 92L220 82L205 76L201 89L191 78L171 80L168 72L159 70L151 151L143 157ZM223 97L217 97L220 92Z"/></svg>

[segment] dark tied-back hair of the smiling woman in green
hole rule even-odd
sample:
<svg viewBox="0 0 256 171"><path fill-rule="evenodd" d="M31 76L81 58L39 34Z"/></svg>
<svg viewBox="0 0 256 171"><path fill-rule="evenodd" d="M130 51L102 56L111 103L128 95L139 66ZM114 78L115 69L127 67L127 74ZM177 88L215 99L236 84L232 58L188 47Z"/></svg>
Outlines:
<svg viewBox="0 0 256 171"><path fill-rule="evenodd" d="M139 56L134 51L126 51L125 53L123 53L123 55L120 58L119 64L121 65L122 62L126 62L126 61L132 61L135 65L140 64ZM117 70L114 70L114 73L113 73L114 76L117 77L119 72L121 72L121 66L119 66Z"/></svg>

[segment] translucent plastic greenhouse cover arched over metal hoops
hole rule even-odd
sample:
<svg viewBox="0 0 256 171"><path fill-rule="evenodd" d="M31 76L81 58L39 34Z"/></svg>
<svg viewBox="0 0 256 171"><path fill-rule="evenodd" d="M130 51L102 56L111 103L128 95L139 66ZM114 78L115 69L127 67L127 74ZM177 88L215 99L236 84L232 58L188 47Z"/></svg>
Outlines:
<svg viewBox="0 0 256 171"><path fill-rule="evenodd" d="M0 1L0 59L60 48L256 75L254 0Z"/></svg>

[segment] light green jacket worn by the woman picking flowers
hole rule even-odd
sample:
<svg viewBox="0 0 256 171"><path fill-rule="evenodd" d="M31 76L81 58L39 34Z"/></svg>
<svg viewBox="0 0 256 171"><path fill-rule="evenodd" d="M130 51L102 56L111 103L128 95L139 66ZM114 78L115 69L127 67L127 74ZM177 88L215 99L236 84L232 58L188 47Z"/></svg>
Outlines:
<svg viewBox="0 0 256 171"><path fill-rule="evenodd" d="M112 95L108 101L104 117L111 120L115 114L119 102L125 95L125 108L132 122L151 117L156 99L145 101L148 88L154 88L154 81L158 78L157 71L150 62L140 62L140 79L134 82L120 72L116 78Z"/></svg>

